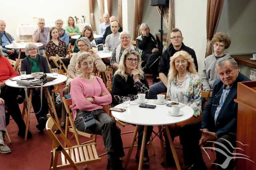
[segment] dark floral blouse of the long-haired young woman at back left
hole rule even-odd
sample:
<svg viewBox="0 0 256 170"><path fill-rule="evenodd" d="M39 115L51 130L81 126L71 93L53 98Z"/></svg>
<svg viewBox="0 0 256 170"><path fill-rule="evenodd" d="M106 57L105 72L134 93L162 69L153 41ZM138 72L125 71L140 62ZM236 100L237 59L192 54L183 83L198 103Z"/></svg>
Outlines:
<svg viewBox="0 0 256 170"><path fill-rule="evenodd" d="M59 57L65 58L68 54L68 48L66 47L66 43L59 39L59 45L54 44L52 40L50 40L45 46L45 52L47 57L59 55Z"/></svg>

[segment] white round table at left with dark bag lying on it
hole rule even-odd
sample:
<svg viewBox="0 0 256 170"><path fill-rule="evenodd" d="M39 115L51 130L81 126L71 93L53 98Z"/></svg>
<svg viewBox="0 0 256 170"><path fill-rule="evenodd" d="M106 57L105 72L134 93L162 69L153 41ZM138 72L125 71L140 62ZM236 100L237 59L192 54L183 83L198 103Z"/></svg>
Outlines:
<svg viewBox="0 0 256 170"><path fill-rule="evenodd" d="M50 92L49 92L48 88L46 88L46 87L47 86L53 86L53 85L65 82L67 80L67 77L62 75L62 74L58 74L57 76L53 76L52 73L46 73L46 74L47 74L47 76L51 76L51 77L56 78L55 80L52 80L51 82L47 82L46 84L44 84L43 87L44 87L44 90L46 92L46 96L47 96L47 100L48 100L47 103L48 103L48 106L49 106L50 113L52 113L52 111L53 111L54 117L56 117L56 122L60 126L60 122L59 122L57 112L56 112L56 109L55 109L55 106L54 106L54 99L51 98ZM26 77L31 77L31 74L26 75ZM12 79L20 80L20 76L16 76ZM12 81L10 79L6 80L5 84L7 86L11 86L11 87L14 87L14 88L24 88L24 90L26 90L26 86L19 86L16 81ZM30 118L30 113L31 113L30 108L31 108L31 103L32 103L33 88L36 88L36 87L41 87L41 86L28 87L29 90L30 90L30 94L29 94L29 99L27 101L28 111L27 111L27 118L26 118L26 131L25 131L25 138L24 138L25 141L27 140L27 136L28 136L28 127L29 127L29 118ZM51 111L51 109L52 109L52 111Z"/></svg>

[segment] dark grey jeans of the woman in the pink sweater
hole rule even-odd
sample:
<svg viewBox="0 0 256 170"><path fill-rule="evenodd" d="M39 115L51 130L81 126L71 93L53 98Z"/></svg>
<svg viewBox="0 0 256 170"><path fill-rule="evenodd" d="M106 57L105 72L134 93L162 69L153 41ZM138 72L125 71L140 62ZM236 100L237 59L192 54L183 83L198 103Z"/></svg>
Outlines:
<svg viewBox="0 0 256 170"><path fill-rule="evenodd" d="M80 119L82 115L92 113L96 119L96 125L85 129L84 120ZM114 153L118 157L124 156L121 130L116 126L116 122L104 111L94 110L90 112L80 111L75 120L76 129L86 133L102 135L103 143L108 153Z"/></svg>

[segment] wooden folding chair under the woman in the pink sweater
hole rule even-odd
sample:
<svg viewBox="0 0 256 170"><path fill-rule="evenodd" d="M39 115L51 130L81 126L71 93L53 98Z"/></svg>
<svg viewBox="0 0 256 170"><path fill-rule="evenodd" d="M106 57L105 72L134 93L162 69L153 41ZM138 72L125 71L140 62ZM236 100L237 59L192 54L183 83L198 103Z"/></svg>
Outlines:
<svg viewBox="0 0 256 170"><path fill-rule="evenodd" d="M96 135L95 134L81 132L81 131L78 131L76 129L75 124L74 124L74 120L73 120L73 116L72 116L73 114L70 111L71 108L72 108L72 99L71 98L66 99L65 97L62 97L62 102L65 106L66 113L67 113L66 114L66 124L65 124L65 137L68 136L68 131L69 131L69 132L72 132L74 134L74 136L76 138L77 145L81 144L78 135L88 137L88 138L91 138L92 136L94 136L92 140L87 141L85 143L91 143L91 142L96 143ZM71 126L69 126L69 123L70 123ZM85 144L85 143L83 143L83 144Z"/></svg>

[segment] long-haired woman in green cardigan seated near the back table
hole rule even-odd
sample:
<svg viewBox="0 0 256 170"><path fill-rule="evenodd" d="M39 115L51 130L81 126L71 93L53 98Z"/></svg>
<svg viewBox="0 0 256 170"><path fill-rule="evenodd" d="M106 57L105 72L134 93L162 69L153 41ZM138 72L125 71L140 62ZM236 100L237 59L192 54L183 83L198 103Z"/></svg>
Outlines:
<svg viewBox="0 0 256 170"><path fill-rule="evenodd" d="M71 45L74 45L76 39L71 38L74 35L80 35L81 32L78 28L78 26L75 25L74 18L72 16L68 17L68 25L65 27L66 31L69 34L69 42Z"/></svg>

